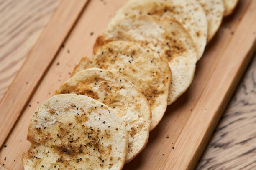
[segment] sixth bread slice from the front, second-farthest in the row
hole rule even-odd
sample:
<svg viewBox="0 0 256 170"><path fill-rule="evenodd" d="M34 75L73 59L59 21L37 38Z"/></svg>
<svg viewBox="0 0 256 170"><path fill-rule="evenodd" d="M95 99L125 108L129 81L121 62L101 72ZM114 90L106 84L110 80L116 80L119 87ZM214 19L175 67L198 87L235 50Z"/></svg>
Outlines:
<svg viewBox="0 0 256 170"><path fill-rule="evenodd" d="M220 27L225 10L223 0L197 0L197 2L205 10L208 21L207 42L209 42Z"/></svg>

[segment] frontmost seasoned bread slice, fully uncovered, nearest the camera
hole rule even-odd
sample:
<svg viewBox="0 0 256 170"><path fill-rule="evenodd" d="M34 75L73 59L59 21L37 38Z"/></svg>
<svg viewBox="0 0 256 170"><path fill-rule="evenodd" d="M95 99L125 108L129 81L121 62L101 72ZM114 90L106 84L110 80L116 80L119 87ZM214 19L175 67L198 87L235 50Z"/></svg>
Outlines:
<svg viewBox="0 0 256 170"><path fill-rule="evenodd" d="M55 95L38 107L28 127L25 170L121 170L128 136L107 105L76 94Z"/></svg>

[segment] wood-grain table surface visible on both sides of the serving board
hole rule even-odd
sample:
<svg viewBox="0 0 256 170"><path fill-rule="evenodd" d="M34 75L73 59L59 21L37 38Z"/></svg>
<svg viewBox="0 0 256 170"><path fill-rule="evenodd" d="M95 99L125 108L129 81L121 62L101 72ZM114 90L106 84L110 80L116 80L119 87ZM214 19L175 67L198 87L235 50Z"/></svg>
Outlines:
<svg viewBox="0 0 256 170"><path fill-rule="evenodd" d="M59 2L0 0L0 99ZM223 113L197 170L256 169L255 56Z"/></svg>

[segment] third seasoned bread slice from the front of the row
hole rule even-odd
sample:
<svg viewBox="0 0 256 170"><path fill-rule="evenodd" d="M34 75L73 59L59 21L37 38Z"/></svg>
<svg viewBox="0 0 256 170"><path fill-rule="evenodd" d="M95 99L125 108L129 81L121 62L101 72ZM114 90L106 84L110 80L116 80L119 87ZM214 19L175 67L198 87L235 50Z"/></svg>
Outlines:
<svg viewBox="0 0 256 170"><path fill-rule="evenodd" d="M140 43L113 41L100 47L91 61L82 58L72 75L92 67L113 71L132 82L151 107L150 129L156 127L166 110L172 79L168 63L157 52Z"/></svg>

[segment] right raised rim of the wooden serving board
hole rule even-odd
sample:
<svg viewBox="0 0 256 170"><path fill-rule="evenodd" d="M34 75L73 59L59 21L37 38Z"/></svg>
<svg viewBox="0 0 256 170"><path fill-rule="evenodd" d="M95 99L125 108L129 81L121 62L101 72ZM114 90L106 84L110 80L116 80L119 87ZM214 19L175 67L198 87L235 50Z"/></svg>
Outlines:
<svg viewBox="0 0 256 170"><path fill-rule="evenodd" d="M210 92L203 89L205 92L202 92L203 95L207 94L208 97L210 94L212 102L205 102L204 100L197 102L193 110L194 113L191 114L187 120L182 133L174 143L174 150L169 153L161 170L192 170L195 168L243 72L246 70L253 52L256 51L256 12L252 15L252 9L256 9L256 1L252 1L249 5L243 20L239 23L236 33L230 40L230 44L223 52L223 56L233 55L234 60L241 61L236 63L241 64L235 65L223 57L217 65L215 65L215 72L212 72L211 76L209 76L210 78L207 80L206 86L211 86L211 89L216 90ZM247 30L243 29L243 25L248 25ZM227 72L218 72L218 68L220 67L226 67ZM238 69L233 72L232 68L237 67ZM218 76L220 75L225 76L225 82L218 81ZM202 97L205 98L204 96ZM204 110L201 109L202 105L205 106ZM193 129L198 130L192 131ZM186 150L186 155L184 155L184 150Z"/></svg>

